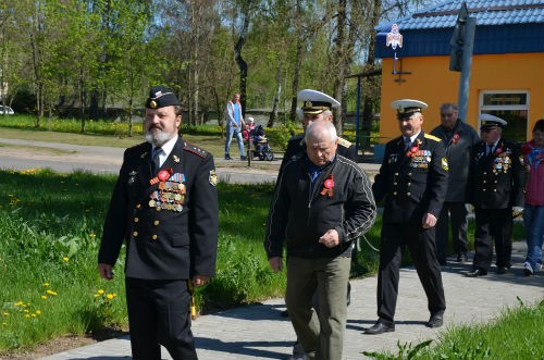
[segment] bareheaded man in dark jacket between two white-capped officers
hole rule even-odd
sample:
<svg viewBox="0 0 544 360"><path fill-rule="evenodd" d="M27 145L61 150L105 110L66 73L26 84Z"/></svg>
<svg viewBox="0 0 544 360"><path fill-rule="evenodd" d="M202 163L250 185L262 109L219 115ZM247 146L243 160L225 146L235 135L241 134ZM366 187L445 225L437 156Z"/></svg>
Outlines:
<svg viewBox="0 0 544 360"><path fill-rule="evenodd" d="M467 123L458 119L458 107L455 103L441 105L441 124L431 135L442 139L446 148L449 174L447 181L446 200L436 222L436 249L438 263L446 265L449 222L452 223L452 238L454 251L458 262L467 261L467 229L469 202L470 157L473 146L480 141L477 132Z"/></svg>

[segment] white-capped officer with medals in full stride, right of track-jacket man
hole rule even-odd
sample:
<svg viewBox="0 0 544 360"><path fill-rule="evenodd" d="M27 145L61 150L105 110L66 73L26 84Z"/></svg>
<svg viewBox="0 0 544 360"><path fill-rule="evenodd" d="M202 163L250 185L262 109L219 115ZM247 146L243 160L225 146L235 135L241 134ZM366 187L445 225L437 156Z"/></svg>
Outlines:
<svg viewBox="0 0 544 360"><path fill-rule="evenodd" d="M399 268L405 246L410 250L428 298L429 327L443 324L446 310L442 274L436 259L434 225L447 190L448 163L444 145L421 129L426 109L422 101L392 102L403 136L385 146L372 193L384 199L378 273L378 322L366 334L395 331Z"/></svg>

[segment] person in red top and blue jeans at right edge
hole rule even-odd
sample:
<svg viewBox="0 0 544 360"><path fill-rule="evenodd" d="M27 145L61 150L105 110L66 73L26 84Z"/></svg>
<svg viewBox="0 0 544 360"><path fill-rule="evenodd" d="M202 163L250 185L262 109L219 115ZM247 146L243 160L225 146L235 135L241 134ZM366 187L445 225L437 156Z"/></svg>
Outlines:
<svg viewBox="0 0 544 360"><path fill-rule="evenodd" d="M526 158L528 179L526 183L527 258L523 273L530 276L542 269L542 240L544 236L544 119L533 127L533 138L521 148Z"/></svg>

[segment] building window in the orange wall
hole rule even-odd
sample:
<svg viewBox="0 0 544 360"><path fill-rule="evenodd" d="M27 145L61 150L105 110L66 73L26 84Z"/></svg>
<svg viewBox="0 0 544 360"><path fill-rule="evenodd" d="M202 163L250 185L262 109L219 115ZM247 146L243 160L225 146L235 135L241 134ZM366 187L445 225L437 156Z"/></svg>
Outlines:
<svg viewBox="0 0 544 360"><path fill-rule="evenodd" d="M492 114L508 122L508 125L503 128L503 137L518 142L527 141L529 91L481 91L480 113ZM478 127L480 127L480 121Z"/></svg>

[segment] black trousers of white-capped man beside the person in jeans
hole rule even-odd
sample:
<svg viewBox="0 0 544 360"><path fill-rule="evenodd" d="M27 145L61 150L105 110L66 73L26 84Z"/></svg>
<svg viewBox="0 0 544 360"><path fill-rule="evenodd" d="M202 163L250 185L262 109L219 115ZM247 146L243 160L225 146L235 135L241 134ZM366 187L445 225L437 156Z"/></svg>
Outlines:
<svg viewBox="0 0 544 360"><path fill-rule="evenodd" d="M514 221L511 208L474 209L474 262L473 266L487 271L493 261L493 238L497 266L511 266L511 236Z"/></svg>

